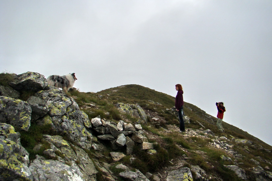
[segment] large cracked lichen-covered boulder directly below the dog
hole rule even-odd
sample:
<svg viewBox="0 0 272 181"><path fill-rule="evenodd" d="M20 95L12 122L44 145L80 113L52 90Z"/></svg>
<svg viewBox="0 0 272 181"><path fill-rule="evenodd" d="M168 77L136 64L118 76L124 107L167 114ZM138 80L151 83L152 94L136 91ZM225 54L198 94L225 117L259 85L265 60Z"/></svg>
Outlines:
<svg viewBox="0 0 272 181"><path fill-rule="evenodd" d="M79 110L72 97L67 96L59 89L41 90L34 94L48 107L48 113L37 120L40 125L51 125L54 132L66 135L69 140L76 141L82 148L91 148L91 143L96 141L86 128L88 116Z"/></svg>

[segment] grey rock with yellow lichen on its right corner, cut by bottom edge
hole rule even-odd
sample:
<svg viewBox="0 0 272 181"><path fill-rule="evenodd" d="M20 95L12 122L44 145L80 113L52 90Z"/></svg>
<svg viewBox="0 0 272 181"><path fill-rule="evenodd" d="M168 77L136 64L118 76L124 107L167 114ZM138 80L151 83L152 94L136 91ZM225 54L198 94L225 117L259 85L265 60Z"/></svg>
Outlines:
<svg viewBox="0 0 272 181"><path fill-rule="evenodd" d="M188 167L183 167L178 170L172 170L168 173L166 181L178 180L193 180L191 170Z"/></svg>

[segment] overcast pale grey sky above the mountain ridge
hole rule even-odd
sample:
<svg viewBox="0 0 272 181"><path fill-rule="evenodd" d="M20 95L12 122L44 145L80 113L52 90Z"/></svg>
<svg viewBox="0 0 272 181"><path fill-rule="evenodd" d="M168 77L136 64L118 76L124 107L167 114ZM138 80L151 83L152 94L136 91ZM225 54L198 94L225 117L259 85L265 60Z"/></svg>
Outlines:
<svg viewBox="0 0 272 181"><path fill-rule="evenodd" d="M0 72L138 84L272 145L271 0L0 0ZM208 128L207 128L208 129Z"/></svg>

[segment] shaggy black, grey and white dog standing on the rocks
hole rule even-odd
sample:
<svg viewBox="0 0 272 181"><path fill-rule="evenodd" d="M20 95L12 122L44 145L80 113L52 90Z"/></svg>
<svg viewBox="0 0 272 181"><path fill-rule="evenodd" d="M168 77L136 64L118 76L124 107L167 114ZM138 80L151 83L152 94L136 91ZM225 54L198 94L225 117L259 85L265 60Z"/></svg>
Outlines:
<svg viewBox="0 0 272 181"><path fill-rule="evenodd" d="M77 80L75 73L68 75L50 75L47 78L47 82L51 86L62 88L63 92L67 92L70 88L74 86L75 81Z"/></svg>

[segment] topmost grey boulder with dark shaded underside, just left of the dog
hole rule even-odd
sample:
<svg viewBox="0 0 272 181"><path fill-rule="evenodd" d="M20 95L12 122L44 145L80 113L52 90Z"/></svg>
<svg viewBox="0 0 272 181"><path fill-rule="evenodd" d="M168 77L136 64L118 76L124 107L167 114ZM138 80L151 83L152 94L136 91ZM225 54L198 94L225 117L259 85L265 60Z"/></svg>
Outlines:
<svg viewBox="0 0 272 181"><path fill-rule="evenodd" d="M44 75L28 71L26 73L17 75L15 82L11 84L11 87L19 91L37 92L39 90L44 90L47 85L48 83L44 78Z"/></svg>

